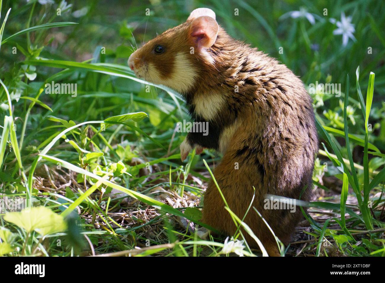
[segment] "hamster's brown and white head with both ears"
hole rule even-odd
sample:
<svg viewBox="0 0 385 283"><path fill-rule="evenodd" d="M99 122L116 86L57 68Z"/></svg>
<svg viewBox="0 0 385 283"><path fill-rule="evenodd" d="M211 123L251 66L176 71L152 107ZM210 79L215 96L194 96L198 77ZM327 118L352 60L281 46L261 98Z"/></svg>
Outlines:
<svg viewBox="0 0 385 283"><path fill-rule="evenodd" d="M208 8L191 12L185 23L166 30L137 49L128 59L135 75L180 93L194 86L204 64L213 64L207 52L218 35L215 13Z"/></svg>

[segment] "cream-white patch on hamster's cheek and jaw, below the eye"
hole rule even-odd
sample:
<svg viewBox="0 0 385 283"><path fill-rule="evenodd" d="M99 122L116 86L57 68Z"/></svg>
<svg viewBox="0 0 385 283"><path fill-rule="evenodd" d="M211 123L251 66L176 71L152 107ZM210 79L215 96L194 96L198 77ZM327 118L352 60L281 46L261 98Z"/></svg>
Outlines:
<svg viewBox="0 0 385 283"><path fill-rule="evenodd" d="M148 64L147 72L148 80L156 84L166 85L177 92L186 92L191 89L198 77L198 70L191 64L188 55L181 52L175 55L170 77L164 78L152 63Z"/></svg>

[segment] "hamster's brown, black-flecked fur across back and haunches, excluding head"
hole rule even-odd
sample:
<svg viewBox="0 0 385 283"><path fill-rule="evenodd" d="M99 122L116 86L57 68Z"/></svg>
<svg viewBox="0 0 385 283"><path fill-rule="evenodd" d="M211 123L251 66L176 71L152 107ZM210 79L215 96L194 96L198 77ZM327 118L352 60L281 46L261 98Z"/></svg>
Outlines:
<svg viewBox="0 0 385 283"><path fill-rule="evenodd" d="M288 244L302 217L300 208L297 207L295 213L288 209L264 209L264 200L267 194L309 198L318 151L311 98L301 80L285 65L229 38L221 29L218 36L211 52L218 54L213 56L216 62L223 62L222 70L208 71L211 76L204 77L197 84L198 89L191 92L193 98L190 97L205 103L204 94L210 93L208 89L213 88L215 92L218 87L227 94L227 107L222 107L217 114L223 126L217 149L224 155L214 176L229 208L241 219L253 198L254 187L252 206L276 236ZM235 48L227 54L219 51L229 45ZM234 92L236 87L238 92ZM194 114L192 111L192 116ZM229 235L236 231L212 181L204 194L203 221ZM275 239L253 209L244 222L270 255L279 255ZM257 246L254 239L243 234L250 246Z"/></svg>

